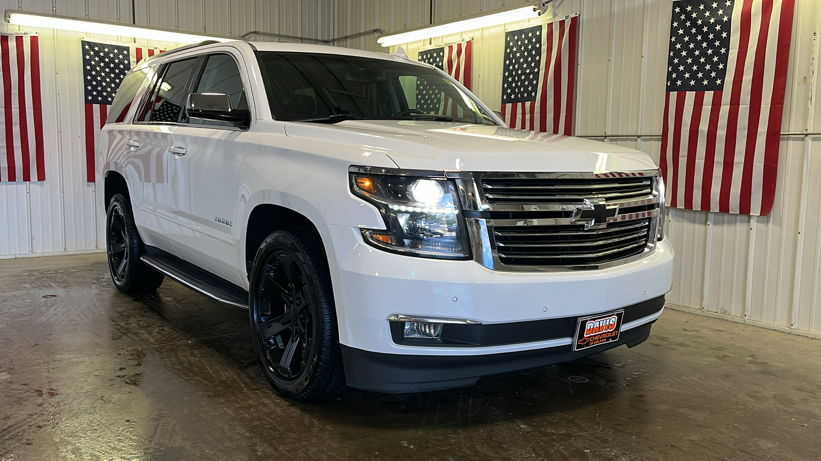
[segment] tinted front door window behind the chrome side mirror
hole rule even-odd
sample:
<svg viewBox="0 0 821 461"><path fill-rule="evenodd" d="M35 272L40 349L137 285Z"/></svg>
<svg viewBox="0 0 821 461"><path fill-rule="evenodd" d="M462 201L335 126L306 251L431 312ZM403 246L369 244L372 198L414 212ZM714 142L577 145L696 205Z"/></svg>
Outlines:
<svg viewBox="0 0 821 461"><path fill-rule="evenodd" d="M200 81L197 82L194 93L222 93L231 97L231 107L247 109L248 102L242 89L240 69L234 58L227 54L212 54L206 57ZM190 123L208 125L233 126L232 122L203 120L191 118Z"/></svg>

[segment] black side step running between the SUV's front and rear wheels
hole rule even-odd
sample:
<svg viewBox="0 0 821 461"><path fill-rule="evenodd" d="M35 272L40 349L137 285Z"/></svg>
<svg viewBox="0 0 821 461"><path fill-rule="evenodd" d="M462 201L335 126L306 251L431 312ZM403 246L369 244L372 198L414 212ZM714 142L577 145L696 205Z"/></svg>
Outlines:
<svg viewBox="0 0 821 461"><path fill-rule="evenodd" d="M239 286L205 272L200 267L163 250L151 248L149 251L151 253L144 254L140 260L159 272L163 272L191 290L198 291L222 304L236 308L248 308L248 292Z"/></svg>

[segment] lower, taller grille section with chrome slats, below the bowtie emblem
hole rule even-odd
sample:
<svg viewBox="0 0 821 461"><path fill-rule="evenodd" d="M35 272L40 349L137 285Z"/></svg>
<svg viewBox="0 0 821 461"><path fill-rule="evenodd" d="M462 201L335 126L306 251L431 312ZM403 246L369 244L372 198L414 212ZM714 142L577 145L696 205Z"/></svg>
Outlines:
<svg viewBox="0 0 821 461"><path fill-rule="evenodd" d="M621 221L602 229L584 226L495 226L498 257L510 266L599 266L644 251L649 218Z"/></svg>

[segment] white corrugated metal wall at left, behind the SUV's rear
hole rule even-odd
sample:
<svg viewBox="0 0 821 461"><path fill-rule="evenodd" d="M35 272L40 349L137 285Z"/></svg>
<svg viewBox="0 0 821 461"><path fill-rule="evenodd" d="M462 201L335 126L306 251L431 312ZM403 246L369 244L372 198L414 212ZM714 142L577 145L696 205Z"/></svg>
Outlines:
<svg viewBox="0 0 821 461"><path fill-rule="evenodd" d="M330 0L0 0L0 8L132 22L205 34L240 36L252 30L326 39L333 29ZM24 30L0 22L0 32ZM103 249L102 211L94 206L95 186L85 182L81 116L80 37L132 42L67 31L37 30L43 71L46 178L34 183L0 183L0 258L12 255ZM269 39L259 36L257 39ZM173 48L177 43L152 43Z"/></svg>

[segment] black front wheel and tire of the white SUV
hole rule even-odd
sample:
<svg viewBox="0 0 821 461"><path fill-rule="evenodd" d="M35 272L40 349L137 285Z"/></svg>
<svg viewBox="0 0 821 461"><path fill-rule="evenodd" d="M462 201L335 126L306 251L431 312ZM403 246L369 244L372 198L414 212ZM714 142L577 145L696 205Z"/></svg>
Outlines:
<svg viewBox="0 0 821 461"><path fill-rule="evenodd" d="M322 246L277 230L251 269L251 337L268 382L284 397L321 399L344 388L336 307Z"/></svg>

